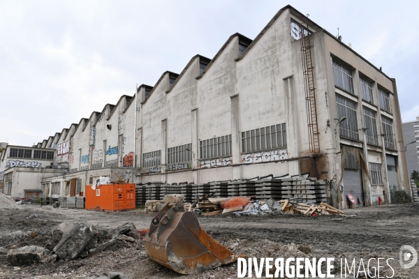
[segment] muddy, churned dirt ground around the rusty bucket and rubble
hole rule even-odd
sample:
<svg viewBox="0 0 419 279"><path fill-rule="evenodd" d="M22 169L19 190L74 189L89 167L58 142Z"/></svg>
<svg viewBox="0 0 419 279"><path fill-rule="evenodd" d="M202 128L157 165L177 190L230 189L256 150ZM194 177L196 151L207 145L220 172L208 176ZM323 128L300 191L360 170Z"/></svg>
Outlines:
<svg viewBox="0 0 419 279"><path fill-rule="evenodd" d="M401 269L399 265L401 246L413 246L419 251L418 203L347 209L345 213L346 218L279 213L198 218L214 239L247 257L335 257L335 278L340 278L340 258L348 261L355 258L357 263L360 258L367 261L378 257L394 258L389 259L389 263L395 275L392 276L391 269L387 268L381 271L381 276L419 278L419 262L411 269ZM43 246L50 228L65 220L104 230L133 222L138 229L145 229L153 217L153 213L140 209L104 212L36 205L0 208L0 254L1 250L29 244ZM125 273L130 279L237 278L237 264L196 276L182 276L150 261L142 241L127 242L86 259L69 262L13 267L0 258L0 278L89 278L110 271Z"/></svg>

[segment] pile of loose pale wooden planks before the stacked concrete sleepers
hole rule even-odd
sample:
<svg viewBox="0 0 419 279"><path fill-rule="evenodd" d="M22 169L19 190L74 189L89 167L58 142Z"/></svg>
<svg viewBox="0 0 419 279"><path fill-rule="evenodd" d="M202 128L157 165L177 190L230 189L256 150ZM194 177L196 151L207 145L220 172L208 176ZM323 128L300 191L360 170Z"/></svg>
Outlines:
<svg viewBox="0 0 419 279"><path fill-rule="evenodd" d="M312 214L316 215L330 215L330 214L338 214L344 215L344 211L340 211L339 209L335 209L335 207L326 204L325 202L321 202L321 204L302 204L297 202L291 202L288 199L282 199L279 201L282 204L282 212L291 212L293 214L303 214L307 216L311 216Z"/></svg>

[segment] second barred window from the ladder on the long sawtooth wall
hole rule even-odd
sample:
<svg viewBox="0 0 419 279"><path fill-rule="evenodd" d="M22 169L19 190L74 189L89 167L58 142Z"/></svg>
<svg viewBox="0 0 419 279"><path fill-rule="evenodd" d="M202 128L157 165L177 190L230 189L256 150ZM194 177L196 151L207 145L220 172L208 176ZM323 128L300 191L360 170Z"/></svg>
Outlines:
<svg viewBox="0 0 419 279"><path fill-rule="evenodd" d="M230 156L231 135L214 137L210 140L200 140L200 159Z"/></svg>

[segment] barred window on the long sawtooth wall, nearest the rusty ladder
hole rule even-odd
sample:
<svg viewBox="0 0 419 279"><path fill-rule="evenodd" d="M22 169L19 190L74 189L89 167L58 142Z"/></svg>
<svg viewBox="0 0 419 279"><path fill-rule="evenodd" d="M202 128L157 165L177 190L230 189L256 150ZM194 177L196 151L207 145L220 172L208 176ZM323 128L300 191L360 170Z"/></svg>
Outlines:
<svg viewBox="0 0 419 279"><path fill-rule="evenodd" d="M286 146L285 123L242 132L242 152L275 149Z"/></svg>

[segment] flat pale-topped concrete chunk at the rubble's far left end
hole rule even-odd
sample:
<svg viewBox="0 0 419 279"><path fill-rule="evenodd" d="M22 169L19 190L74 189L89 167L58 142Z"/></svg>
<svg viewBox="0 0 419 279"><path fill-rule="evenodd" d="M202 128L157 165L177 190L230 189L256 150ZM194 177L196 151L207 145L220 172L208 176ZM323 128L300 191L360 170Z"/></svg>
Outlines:
<svg viewBox="0 0 419 279"><path fill-rule="evenodd" d="M32 264L45 264L53 261L50 251L41 246L24 246L8 251L7 261L12 266L28 266Z"/></svg>

